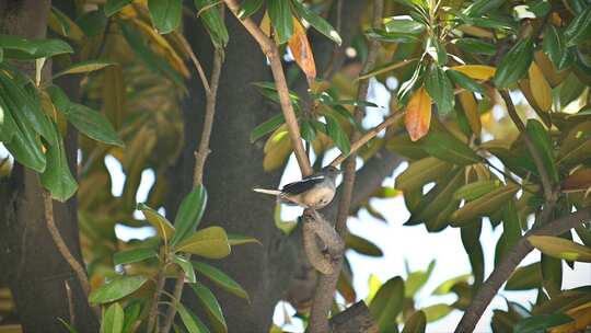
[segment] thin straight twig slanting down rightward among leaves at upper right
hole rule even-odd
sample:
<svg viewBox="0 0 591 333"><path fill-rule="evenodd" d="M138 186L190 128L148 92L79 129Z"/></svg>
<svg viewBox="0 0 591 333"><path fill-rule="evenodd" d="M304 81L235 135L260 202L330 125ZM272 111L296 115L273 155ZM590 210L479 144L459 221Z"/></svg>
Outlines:
<svg viewBox="0 0 591 333"><path fill-rule="evenodd" d="M515 124L517 128L523 136L523 141L525 142L525 146L528 147L528 150L530 151L530 154L532 156L535 166L537 166L537 171L540 172L540 179L542 181L542 187L544 188L544 197L546 202L556 202L555 194L552 188L552 182L551 177L548 175L548 171L546 170L546 166L544 165L544 161L542 160L542 156L540 154L540 151L535 148L532 139L530 138L525 125L521 122L515 106L513 105L513 101L511 101L511 96L509 95L509 92L507 90L501 89L499 90L499 93L505 101L505 104L507 105L507 113L509 114L509 117L511 117L511 120L513 120L513 124Z"/></svg>

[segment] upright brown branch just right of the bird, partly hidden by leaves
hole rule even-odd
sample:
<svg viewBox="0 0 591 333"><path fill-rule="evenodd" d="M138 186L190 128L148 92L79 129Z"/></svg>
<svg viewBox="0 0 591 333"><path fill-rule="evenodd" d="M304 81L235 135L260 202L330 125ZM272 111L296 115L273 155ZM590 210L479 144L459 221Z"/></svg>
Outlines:
<svg viewBox="0 0 591 333"><path fill-rule="evenodd" d="M381 26L382 13L383 13L384 1L374 0L373 1L373 18L372 26L378 28ZM378 41L369 42L369 51L366 64L363 65L362 72L370 71L375 66L375 60L378 58L378 51L380 48L380 43ZM368 94L369 89L369 79L360 80L357 91L357 99L364 100ZM354 112L356 122L361 122L363 118L363 108L362 105L357 105ZM380 129L381 130L381 129ZM378 133L380 131L378 130ZM375 134L373 135L375 136ZM358 143L358 148L363 143L359 142L361 134L355 128L351 134L351 141ZM369 139L368 139L369 140ZM352 147L351 147L352 148ZM351 149L351 153L345 162L345 175L343 180L343 196L338 206L338 214L335 229L338 232L341 239L347 237L347 217L349 216L349 208L351 205L351 197L355 186L355 169L356 169L356 157L357 154ZM333 305L333 298L340 275L340 269L343 267L343 256L338 257L333 273L327 275L321 275L318 284L316 285L316 290L314 292L314 300L312 303L312 309L310 310L310 333L325 333L329 332L328 324L328 312Z"/></svg>

